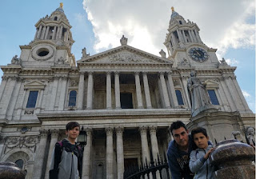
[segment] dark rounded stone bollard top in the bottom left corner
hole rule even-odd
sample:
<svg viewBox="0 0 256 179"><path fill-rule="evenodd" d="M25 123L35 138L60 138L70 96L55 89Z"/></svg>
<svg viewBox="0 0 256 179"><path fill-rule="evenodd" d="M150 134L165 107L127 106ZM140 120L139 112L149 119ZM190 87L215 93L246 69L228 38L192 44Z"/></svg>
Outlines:
<svg viewBox="0 0 256 179"><path fill-rule="evenodd" d="M26 174L13 162L0 162L0 179L25 179Z"/></svg>

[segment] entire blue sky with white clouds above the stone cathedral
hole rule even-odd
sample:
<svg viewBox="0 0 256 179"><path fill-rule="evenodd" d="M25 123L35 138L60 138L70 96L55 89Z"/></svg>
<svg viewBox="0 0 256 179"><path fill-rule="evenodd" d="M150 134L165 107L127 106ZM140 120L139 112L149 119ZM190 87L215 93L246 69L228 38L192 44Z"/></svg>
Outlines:
<svg viewBox="0 0 256 179"><path fill-rule="evenodd" d="M255 113L255 2L254 0L3 0L0 6L0 66L10 63L19 46L28 45L35 24L63 2L72 26L76 61L86 47L90 55L128 45L160 56L171 10L197 23L206 46L216 48L218 59L237 66L234 74L250 109ZM166 53L167 54L167 53ZM2 76L2 70L0 72ZM1 79L0 79L1 80Z"/></svg>

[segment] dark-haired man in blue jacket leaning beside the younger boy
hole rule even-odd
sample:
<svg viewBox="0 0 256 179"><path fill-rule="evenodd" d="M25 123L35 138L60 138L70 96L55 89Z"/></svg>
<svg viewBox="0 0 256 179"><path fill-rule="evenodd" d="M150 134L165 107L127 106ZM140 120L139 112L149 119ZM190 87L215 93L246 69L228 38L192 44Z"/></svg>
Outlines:
<svg viewBox="0 0 256 179"><path fill-rule="evenodd" d="M172 179L193 179L194 173L189 167L190 153L194 148L193 139L182 121L174 121L170 125L170 132L174 140L168 145L167 157Z"/></svg>

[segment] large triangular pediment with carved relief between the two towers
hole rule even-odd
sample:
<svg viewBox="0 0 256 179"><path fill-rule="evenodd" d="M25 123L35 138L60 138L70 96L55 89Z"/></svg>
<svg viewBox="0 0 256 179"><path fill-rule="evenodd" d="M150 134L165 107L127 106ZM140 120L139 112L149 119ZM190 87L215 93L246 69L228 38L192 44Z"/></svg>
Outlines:
<svg viewBox="0 0 256 179"><path fill-rule="evenodd" d="M79 63L106 63L106 64L172 64L166 58L135 49L131 46L119 46L100 54L82 58Z"/></svg>

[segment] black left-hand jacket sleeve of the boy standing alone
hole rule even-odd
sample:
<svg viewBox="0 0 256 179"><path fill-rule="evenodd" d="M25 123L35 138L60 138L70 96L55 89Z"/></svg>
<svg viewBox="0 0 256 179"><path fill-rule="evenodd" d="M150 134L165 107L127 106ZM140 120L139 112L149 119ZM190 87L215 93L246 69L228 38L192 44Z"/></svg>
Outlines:
<svg viewBox="0 0 256 179"><path fill-rule="evenodd" d="M49 170L49 179L58 178L58 164L61 162L62 158L62 149L57 143L54 147L54 151L51 157L50 170Z"/></svg>

